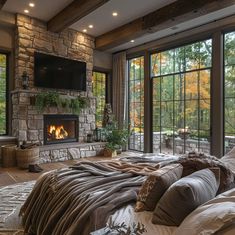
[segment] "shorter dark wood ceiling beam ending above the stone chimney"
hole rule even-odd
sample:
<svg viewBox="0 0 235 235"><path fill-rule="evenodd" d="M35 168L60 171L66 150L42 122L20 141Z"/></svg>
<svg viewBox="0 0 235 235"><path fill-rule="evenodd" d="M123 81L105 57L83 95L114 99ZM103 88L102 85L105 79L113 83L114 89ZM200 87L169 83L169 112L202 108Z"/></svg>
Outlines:
<svg viewBox="0 0 235 235"><path fill-rule="evenodd" d="M74 0L47 22L49 31L58 33L88 15L109 0Z"/></svg>

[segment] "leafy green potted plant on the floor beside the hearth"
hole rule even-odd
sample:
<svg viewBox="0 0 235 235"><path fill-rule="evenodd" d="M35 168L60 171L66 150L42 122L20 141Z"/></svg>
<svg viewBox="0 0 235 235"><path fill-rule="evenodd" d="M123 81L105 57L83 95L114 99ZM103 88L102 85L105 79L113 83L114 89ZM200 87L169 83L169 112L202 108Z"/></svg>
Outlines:
<svg viewBox="0 0 235 235"><path fill-rule="evenodd" d="M107 125L104 130L104 137L107 142L104 149L105 157L117 155L117 149L127 143L129 137L128 128L118 128L116 123Z"/></svg>

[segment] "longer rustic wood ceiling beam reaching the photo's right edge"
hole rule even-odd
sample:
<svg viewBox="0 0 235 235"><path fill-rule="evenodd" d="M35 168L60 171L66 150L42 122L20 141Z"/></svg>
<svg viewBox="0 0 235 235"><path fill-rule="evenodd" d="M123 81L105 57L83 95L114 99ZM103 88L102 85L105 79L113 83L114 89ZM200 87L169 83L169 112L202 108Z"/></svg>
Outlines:
<svg viewBox="0 0 235 235"><path fill-rule="evenodd" d="M96 37L96 49L111 49L147 33L155 33L234 4L235 0L178 0Z"/></svg>

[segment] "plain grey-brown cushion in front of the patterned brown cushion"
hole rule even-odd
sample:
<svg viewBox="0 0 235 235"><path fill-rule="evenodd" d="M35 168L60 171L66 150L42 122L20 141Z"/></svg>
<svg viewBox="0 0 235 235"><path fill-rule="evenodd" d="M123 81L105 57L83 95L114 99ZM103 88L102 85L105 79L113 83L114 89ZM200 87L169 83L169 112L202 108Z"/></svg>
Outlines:
<svg viewBox="0 0 235 235"><path fill-rule="evenodd" d="M189 213L214 198L218 187L219 182L209 169L181 178L170 186L158 202L152 222L179 226Z"/></svg>

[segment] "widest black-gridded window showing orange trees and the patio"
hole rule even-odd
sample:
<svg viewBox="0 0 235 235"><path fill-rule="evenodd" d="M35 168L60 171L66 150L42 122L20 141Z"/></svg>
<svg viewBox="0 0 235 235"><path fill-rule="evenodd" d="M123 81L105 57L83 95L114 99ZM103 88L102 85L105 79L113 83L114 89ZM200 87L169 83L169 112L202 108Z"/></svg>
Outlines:
<svg viewBox="0 0 235 235"><path fill-rule="evenodd" d="M210 152L212 40L151 55L153 152Z"/></svg>

